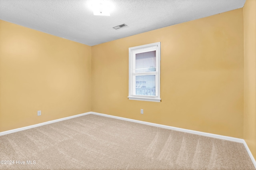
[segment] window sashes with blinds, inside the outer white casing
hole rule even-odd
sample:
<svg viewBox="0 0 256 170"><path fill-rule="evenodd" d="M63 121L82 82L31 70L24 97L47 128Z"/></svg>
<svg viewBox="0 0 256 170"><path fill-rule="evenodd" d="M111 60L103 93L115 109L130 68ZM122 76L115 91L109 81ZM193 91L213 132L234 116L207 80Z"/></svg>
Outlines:
<svg viewBox="0 0 256 170"><path fill-rule="evenodd" d="M157 47L149 47L134 51L132 95L158 96L157 50Z"/></svg>

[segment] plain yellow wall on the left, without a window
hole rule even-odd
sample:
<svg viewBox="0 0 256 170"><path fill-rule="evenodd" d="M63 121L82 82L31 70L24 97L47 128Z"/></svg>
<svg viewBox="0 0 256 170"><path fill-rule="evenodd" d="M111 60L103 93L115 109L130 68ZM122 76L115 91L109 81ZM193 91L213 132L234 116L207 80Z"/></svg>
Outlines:
<svg viewBox="0 0 256 170"><path fill-rule="evenodd" d="M0 20L0 132L88 111L91 47Z"/></svg>

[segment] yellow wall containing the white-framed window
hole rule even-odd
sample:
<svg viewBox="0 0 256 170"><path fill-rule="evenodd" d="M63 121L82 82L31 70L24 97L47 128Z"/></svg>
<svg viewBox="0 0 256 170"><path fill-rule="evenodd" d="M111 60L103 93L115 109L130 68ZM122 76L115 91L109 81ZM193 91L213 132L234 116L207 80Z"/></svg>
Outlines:
<svg viewBox="0 0 256 170"><path fill-rule="evenodd" d="M241 8L92 46L92 111L243 138L243 34ZM129 100L128 48L154 42L162 101Z"/></svg>

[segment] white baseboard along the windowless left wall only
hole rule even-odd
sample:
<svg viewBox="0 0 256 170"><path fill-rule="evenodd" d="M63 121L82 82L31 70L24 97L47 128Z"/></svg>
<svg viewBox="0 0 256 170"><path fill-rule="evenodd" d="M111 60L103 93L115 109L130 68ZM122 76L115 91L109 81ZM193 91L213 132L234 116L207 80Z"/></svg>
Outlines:
<svg viewBox="0 0 256 170"><path fill-rule="evenodd" d="M26 130L26 129L30 129L30 128L34 128L34 127L40 127L40 126L43 126L43 125L48 125L48 124L51 124L51 123L65 121L67 119L72 119L72 118L75 118L75 117L80 117L80 116L89 115L89 114L91 114L91 112L82 113L82 114L79 114L79 115L74 115L74 116L69 116L69 117L64 117L64 118L60 118L60 119L55 119L55 120L52 120L52 121L38 123L36 125L30 125L30 126L27 126L27 127L21 127L21 128L16 128L16 129L12 129L12 130L7 130L7 131L4 131L4 132L0 132L0 136L5 135L5 134L18 132L18 131L22 131L22 130Z"/></svg>

